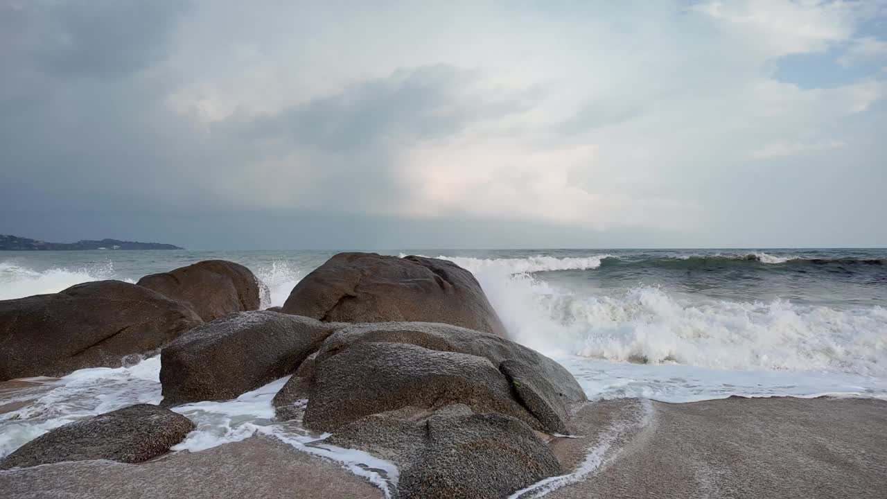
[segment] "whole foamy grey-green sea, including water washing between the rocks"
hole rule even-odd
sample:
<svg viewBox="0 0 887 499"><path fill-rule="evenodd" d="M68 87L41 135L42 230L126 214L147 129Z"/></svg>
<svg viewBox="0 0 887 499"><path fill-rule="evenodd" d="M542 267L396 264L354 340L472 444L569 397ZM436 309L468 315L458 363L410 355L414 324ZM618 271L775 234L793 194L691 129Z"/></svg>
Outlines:
<svg viewBox="0 0 887 499"><path fill-rule="evenodd" d="M561 362L588 397L665 402L796 396L887 399L887 249L392 249L475 274L511 339ZM246 265L282 305L334 251L0 252L0 299L85 281L135 282L200 260ZM161 400L160 360L33 378L0 394L0 456L60 424ZM237 400L176 408L199 425L174 450L255 433L338 460L383 490L396 468L273 421L286 378Z"/></svg>

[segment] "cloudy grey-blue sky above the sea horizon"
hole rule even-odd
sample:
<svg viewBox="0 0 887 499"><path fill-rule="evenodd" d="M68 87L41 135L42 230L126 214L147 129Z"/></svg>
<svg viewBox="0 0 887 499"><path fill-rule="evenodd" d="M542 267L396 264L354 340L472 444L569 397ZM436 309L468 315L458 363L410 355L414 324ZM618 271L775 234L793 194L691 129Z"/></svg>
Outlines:
<svg viewBox="0 0 887 499"><path fill-rule="evenodd" d="M0 0L0 234L887 247L887 0Z"/></svg>

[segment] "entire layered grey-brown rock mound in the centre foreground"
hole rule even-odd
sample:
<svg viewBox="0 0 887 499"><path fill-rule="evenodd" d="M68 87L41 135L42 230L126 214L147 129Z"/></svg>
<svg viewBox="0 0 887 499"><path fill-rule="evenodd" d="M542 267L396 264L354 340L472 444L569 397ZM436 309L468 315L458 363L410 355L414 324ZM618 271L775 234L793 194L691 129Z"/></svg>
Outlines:
<svg viewBox="0 0 887 499"><path fill-rule="evenodd" d="M307 401L306 401L307 399ZM506 497L561 474L544 432L585 402L544 355L490 333L426 322L351 324L277 397L279 419L397 464L399 499Z"/></svg>

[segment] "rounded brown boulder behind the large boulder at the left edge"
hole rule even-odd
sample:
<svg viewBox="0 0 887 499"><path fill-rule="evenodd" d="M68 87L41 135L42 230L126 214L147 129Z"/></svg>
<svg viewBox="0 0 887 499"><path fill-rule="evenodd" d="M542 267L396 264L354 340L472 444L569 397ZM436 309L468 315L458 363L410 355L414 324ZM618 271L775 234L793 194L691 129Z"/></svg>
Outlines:
<svg viewBox="0 0 887 499"><path fill-rule="evenodd" d="M139 286L184 302L204 321L258 310L270 301L267 286L247 267L227 260L204 260L170 272L145 275Z"/></svg>

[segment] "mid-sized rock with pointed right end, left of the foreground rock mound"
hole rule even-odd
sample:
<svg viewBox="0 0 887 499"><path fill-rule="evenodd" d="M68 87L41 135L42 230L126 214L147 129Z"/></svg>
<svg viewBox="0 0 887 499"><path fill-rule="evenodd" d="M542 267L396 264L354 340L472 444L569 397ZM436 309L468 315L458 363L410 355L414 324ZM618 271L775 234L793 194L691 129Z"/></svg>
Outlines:
<svg viewBox="0 0 887 499"><path fill-rule="evenodd" d="M342 324L286 313L232 313L161 352L163 405L229 400L292 373Z"/></svg>

